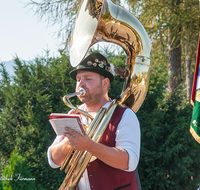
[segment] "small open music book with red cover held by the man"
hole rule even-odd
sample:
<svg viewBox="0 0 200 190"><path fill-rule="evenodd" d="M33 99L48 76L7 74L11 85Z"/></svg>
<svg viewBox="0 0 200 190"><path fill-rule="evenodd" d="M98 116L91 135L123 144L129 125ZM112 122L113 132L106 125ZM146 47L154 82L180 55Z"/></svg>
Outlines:
<svg viewBox="0 0 200 190"><path fill-rule="evenodd" d="M79 114L52 113L49 119L56 135L65 135L67 133L65 127L74 129L81 135L85 133Z"/></svg>

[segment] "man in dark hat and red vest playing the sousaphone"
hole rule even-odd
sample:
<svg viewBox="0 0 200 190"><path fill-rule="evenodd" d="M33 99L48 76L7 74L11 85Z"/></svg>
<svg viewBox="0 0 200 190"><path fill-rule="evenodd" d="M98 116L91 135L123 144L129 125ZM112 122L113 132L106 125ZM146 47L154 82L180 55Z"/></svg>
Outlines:
<svg viewBox="0 0 200 190"><path fill-rule="evenodd" d="M83 102L79 109L95 117L100 107L109 107L108 89L114 78L110 71L107 59L94 53L70 72L77 81L76 91L80 88L86 91L85 95L78 96ZM87 125L89 119L81 116L83 124ZM57 136L48 149L51 167L60 167L70 147L86 150L97 158L88 164L78 184L79 190L137 190L134 170L139 162L140 126L130 108L116 108L100 143L67 127L66 132L65 138Z"/></svg>

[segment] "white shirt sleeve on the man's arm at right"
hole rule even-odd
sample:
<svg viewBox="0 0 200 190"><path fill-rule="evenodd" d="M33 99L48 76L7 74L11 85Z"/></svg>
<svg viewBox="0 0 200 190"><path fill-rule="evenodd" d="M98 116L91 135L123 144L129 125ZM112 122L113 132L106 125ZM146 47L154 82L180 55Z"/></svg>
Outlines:
<svg viewBox="0 0 200 190"><path fill-rule="evenodd" d="M116 131L116 147L125 149L129 154L129 167L134 171L140 157L140 124L136 114L127 108Z"/></svg>

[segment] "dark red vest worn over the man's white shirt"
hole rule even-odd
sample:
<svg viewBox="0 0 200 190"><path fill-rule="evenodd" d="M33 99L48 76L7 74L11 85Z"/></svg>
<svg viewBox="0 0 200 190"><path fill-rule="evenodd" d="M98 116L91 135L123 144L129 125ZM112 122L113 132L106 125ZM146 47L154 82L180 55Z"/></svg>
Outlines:
<svg viewBox="0 0 200 190"><path fill-rule="evenodd" d="M115 132L125 108L117 107L100 143L115 147ZM105 155L106 156L106 155ZM127 172L104 164L99 159L87 166L91 190L138 190L135 171Z"/></svg>

